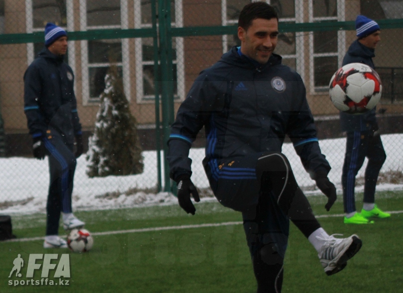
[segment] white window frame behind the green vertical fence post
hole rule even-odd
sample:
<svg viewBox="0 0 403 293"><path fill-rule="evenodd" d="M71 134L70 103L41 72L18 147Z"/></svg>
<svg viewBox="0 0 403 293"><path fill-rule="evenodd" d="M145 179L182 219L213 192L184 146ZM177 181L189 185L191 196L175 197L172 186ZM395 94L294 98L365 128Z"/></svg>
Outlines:
<svg viewBox="0 0 403 293"><path fill-rule="evenodd" d="M183 27L183 5L182 0L175 0L175 22L171 22L172 27ZM141 23L141 2L134 0L134 28L151 28L152 24ZM177 91L180 100L185 99L185 62L184 62L184 38L175 37L176 41L176 64L177 68ZM143 66L153 65L154 61L143 61L143 47L141 38L135 38L135 59L136 59L136 100L137 103L154 103L155 96L144 96L143 92Z"/></svg>

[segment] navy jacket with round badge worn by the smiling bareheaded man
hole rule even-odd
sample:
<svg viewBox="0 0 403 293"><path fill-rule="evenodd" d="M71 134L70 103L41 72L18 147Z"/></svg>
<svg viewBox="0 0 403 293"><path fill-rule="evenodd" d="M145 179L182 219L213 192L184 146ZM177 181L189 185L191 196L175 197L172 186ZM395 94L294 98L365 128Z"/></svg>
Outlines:
<svg viewBox="0 0 403 293"><path fill-rule="evenodd" d="M268 63L256 65L233 47L201 72L172 124L167 159L173 180L191 176L189 150L203 126L204 165L209 160L281 152L287 134L312 179L319 170L329 172L301 76L281 59L272 54Z"/></svg>

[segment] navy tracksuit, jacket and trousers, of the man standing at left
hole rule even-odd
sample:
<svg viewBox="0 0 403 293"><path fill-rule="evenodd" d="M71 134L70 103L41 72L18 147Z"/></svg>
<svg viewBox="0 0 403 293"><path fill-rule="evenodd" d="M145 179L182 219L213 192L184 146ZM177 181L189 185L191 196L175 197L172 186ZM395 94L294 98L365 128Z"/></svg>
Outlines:
<svg viewBox="0 0 403 293"><path fill-rule="evenodd" d="M73 71L63 57L44 48L24 74L24 112L29 133L41 137L48 155L50 186L46 235L57 235L60 212L72 212L76 158L74 138L81 124L74 95Z"/></svg>

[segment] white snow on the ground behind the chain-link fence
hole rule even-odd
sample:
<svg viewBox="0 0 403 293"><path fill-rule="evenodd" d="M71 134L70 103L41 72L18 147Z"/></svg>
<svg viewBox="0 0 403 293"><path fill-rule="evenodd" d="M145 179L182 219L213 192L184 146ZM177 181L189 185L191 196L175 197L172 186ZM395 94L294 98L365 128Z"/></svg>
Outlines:
<svg viewBox="0 0 403 293"><path fill-rule="evenodd" d="M382 141L387 153L387 160L381 172L391 170L402 171L403 154L400 151L403 144L403 134L382 135ZM326 155L332 170L329 179L336 185L338 194L341 193L341 170L344 160L345 138L327 139L319 141L322 153ZM292 144L283 146L283 153L289 158L296 179L302 187L314 186L308 174L302 167ZM144 151L144 172L130 176L108 176L104 178L89 178L86 175L86 159L81 156L77 161L74 180L73 208L74 209L111 209L120 207L134 207L157 204L176 204L177 199L169 193L146 194L137 192L133 195L124 195L130 189L154 188L157 182L156 152ZM199 188L207 188L208 181L204 174L201 160L204 149L191 149L192 180ZM358 177L364 176L364 162ZM47 189L49 184L48 161L39 161L33 158L1 158L0 159L0 212L1 213L33 213L44 212L46 206ZM403 190L403 185L383 184L377 191ZM357 187L362 192L363 187ZM109 196L105 196L109 193ZM320 194L314 190L305 192L307 195ZM214 200L205 198L203 200ZM12 203L12 204L10 204Z"/></svg>

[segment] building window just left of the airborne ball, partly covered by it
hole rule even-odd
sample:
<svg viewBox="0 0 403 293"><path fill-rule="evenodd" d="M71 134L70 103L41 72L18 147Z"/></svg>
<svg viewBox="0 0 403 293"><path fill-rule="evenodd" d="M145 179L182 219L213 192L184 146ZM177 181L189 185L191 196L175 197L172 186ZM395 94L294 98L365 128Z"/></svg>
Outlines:
<svg viewBox="0 0 403 293"><path fill-rule="evenodd" d="M344 21L343 0L310 0L309 22ZM341 66L345 52L344 31L314 31L309 35L311 93L328 91L329 81Z"/></svg>

